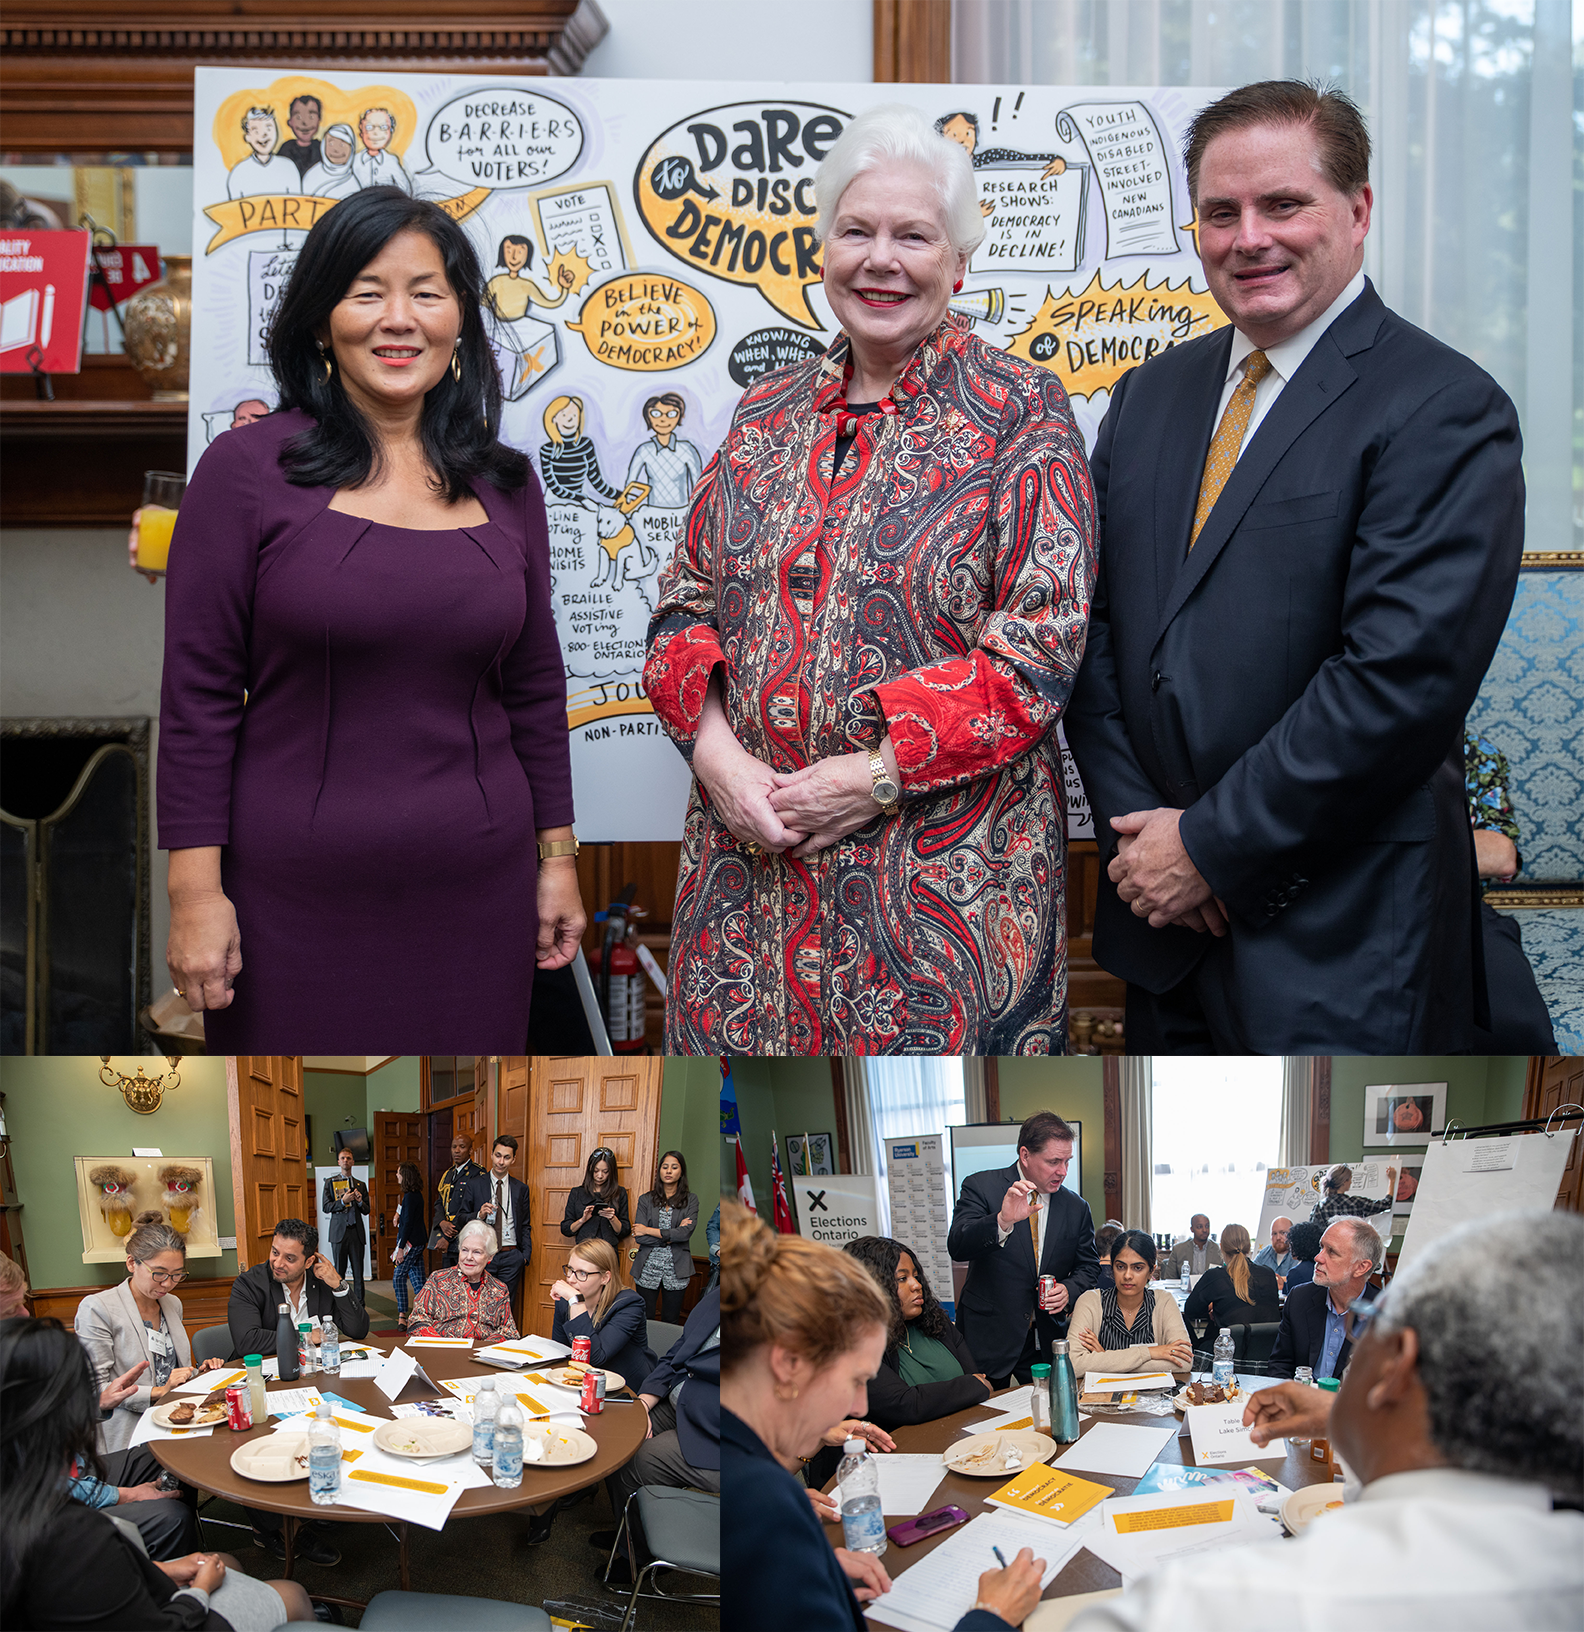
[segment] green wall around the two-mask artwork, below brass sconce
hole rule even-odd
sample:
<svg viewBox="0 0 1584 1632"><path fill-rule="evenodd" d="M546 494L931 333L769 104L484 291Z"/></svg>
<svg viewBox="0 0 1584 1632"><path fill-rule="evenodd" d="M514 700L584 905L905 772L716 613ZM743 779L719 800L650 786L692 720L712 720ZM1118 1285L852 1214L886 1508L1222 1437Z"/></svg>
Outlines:
<svg viewBox="0 0 1584 1632"><path fill-rule="evenodd" d="M122 1071L152 1071L160 1061L114 1058ZM33 1288L116 1286L126 1279L121 1263L83 1263L83 1231L77 1211L78 1155L131 1155L132 1146L153 1146L166 1155L207 1155L214 1162L215 1234L237 1229L232 1204L232 1144L225 1111L225 1059L189 1054L181 1061L181 1085L165 1095L152 1116L127 1110L116 1089L100 1082L93 1054L7 1059L0 1064L7 1131L16 1195L23 1204L21 1235L28 1248ZM237 1253L194 1258L199 1279L237 1273Z"/></svg>

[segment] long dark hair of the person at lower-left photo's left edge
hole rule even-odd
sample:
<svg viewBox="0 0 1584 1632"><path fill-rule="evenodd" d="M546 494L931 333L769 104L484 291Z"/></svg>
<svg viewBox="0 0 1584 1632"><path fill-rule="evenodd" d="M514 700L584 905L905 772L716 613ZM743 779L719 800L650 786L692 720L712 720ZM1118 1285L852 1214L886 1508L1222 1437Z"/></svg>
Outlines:
<svg viewBox="0 0 1584 1632"><path fill-rule="evenodd" d="M0 1614L11 1621L28 1555L67 1503L64 1469L103 1477L100 1390L59 1320L0 1322Z"/></svg>

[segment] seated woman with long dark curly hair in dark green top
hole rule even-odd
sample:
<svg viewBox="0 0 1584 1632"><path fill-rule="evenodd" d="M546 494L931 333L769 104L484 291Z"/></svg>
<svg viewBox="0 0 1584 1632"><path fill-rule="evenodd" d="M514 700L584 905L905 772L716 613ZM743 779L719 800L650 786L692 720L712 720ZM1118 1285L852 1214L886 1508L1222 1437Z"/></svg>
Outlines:
<svg viewBox="0 0 1584 1632"><path fill-rule="evenodd" d="M914 1253L889 1235L860 1235L843 1252L874 1276L891 1302L886 1353L869 1379L868 1420L905 1428L982 1405L990 1381L946 1319Z"/></svg>

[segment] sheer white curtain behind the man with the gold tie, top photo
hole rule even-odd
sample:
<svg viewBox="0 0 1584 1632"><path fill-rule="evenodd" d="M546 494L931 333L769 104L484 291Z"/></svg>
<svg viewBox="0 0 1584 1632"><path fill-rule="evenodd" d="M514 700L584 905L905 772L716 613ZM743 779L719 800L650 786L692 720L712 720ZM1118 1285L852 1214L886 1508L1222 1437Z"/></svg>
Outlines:
<svg viewBox="0 0 1584 1632"><path fill-rule="evenodd" d="M1527 547L1573 550L1584 211L1568 0L956 0L953 78L1235 86L1325 78L1364 111L1364 269L1517 403Z"/></svg>

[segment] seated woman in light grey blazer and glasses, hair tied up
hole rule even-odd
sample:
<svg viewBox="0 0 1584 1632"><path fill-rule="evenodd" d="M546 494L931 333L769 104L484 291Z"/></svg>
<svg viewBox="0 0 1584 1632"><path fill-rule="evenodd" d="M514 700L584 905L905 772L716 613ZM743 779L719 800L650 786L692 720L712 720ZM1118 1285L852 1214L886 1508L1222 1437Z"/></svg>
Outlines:
<svg viewBox="0 0 1584 1632"><path fill-rule="evenodd" d="M77 1337L88 1353L98 1387L139 1363L142 1382L114 1410L101 1415L100 1451L126 1451L137 1418L171 1389L220 1359L192 1364L192 1348L181 1324L176 1288L188 1278L188 1244L165 1222L165 1214L139 1213L127 1235L127 1278L119 1286L85 1297L77 1306ZM114 1483L129 1483L116 1479ZM134 1482L135 1483L135 1482Z"/></svg>

